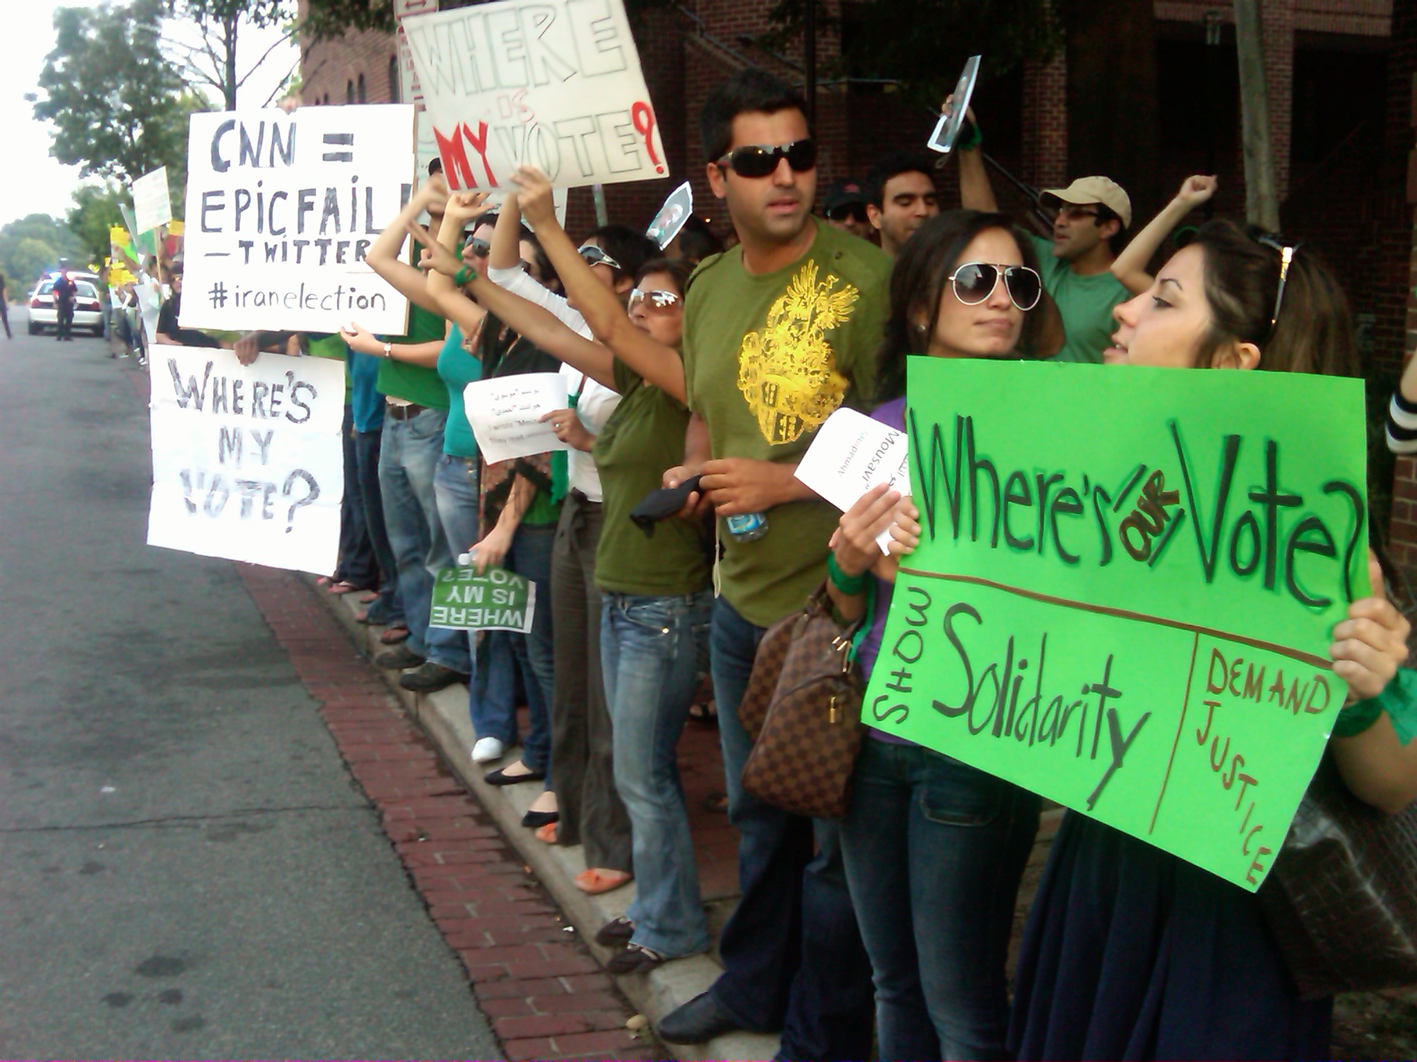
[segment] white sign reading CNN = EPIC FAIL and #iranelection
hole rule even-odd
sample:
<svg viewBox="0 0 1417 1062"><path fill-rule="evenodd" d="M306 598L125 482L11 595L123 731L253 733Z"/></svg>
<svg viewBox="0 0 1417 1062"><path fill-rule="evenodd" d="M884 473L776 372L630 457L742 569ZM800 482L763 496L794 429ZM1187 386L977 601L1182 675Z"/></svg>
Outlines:
<svg viewBox="0 0 1417 1062"><path fill-rule="evenodd" d="M402 334L364 262L412 190L407 105L198 113L187 135L181 324Z"/></svg>

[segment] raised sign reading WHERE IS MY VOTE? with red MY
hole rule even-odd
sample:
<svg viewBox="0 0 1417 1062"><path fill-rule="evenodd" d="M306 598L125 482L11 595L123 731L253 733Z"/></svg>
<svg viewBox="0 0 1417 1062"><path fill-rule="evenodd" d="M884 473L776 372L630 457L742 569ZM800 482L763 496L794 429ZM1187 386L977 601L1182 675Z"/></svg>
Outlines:
<svg viewBox="0 0 1417 1062"><path fill-rule="evenodd" d="M496 0L402 21L453 188L667 177L621 0Z"/></svg>

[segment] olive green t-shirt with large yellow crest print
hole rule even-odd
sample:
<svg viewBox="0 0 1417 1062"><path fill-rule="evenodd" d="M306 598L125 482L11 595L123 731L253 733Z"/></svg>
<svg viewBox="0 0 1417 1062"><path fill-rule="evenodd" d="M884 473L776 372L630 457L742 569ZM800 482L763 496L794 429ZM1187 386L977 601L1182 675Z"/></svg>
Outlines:
<svg viewBox="0 0 1417 1062"><path fill-rule="evenodd" d="M699 266L684 304L684 382L714 457L795 464L837 406L869 406L890 266L879 248L822 224L808 252L772 273L748 273L741 248ZM823 578L839 515L826 501L789 501L768 511L762 538L721 528L723 596L760 627L799 607Z"/></svg>

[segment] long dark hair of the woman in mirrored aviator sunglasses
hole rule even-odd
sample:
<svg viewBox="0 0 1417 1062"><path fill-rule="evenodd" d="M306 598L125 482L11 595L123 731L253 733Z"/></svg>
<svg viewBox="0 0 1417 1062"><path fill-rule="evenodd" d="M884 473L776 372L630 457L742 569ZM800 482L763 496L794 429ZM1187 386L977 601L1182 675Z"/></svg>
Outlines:
<svg viewBox="0 0 1417 1062"><path fill-rule="evenodd" d="M1002 228L1013 235L1023 265L1039 268L1033 241L1020 234L1003 214L976 210L951 210L930 218L905 241L890 275L890 319L877 354L876 401L888 402L905 394L905 358L924 354L939 319L939 299L949 285L949 275L959 263L969 241L981 232ZM924 329L918 321L925 317ZM1023 314L1019 350L1032 350L1040 317L1036 310Z"/></svg>

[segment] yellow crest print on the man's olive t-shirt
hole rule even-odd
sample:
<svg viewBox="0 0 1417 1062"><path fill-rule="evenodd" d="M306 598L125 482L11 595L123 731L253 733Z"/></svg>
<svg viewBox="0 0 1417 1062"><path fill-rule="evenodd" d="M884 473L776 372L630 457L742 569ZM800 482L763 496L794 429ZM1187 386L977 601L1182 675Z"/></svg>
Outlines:
<svg viewBox="0 0 1417 1062"><path fill-rule="evenodd" d="M816 262L806 262L738 351L738 389L772 446L819 428L846 395L826 333L850 319L857 290L832 273L818 283L816 275Z"/></svg>

